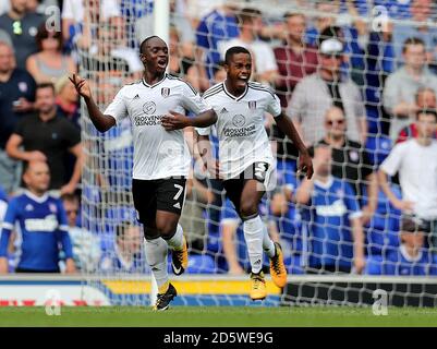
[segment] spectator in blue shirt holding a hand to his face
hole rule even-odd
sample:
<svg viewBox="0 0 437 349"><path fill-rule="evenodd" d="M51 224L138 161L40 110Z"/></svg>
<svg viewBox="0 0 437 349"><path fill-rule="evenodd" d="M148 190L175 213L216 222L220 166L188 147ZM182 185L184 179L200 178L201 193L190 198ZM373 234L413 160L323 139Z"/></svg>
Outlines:
<svg viewBox="0 0 437 349"><path fill-rule="evenodd" d="M361 274L365 266L362 213L352 186L331 176L331 149L316 145L314 174L296 191L308 231L308 273Z"/></svg>

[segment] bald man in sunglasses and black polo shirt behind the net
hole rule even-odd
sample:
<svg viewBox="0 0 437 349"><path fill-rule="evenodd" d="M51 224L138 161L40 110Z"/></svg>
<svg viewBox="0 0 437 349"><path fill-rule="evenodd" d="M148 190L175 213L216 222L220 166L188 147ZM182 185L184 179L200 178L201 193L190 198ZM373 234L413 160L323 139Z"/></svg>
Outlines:
<svg viewBox="0 0 437 349"><path fill-rule="evenodd" d="M331 107L325 115L325 136L317 142L331 148L331 174L349 183L363 213L362 221L369 221L377 205L378 183L366 151L347 136L347 119L339 107ZM311 148L311 152L313 148ZM364 192L368 200L363 201Z"/></svg>

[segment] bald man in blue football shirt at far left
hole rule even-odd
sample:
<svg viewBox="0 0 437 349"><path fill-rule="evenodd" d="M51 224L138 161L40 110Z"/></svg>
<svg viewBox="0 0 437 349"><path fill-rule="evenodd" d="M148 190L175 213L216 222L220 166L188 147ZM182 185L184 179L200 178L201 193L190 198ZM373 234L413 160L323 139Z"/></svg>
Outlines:
<svg viewBox="0 0 437 349"><path fill-rule="evenodd" d="M0 273L8 273L8 243L16 222L22 236L16 273L59 273L60 246L65 255L65 273L75 273L62 202L47 193L49 167L44 161L31 161L23 180L27 190L11 200L2 225Z"/></svg>

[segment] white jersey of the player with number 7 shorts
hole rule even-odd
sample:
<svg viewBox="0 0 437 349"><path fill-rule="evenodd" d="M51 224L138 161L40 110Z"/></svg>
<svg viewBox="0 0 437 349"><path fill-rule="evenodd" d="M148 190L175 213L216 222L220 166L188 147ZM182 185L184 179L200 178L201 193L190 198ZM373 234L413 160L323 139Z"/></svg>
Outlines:
<svg viewBox="0 0 437 349"><path fill-rule="evenodd" d="M187 176L191 155L183 130L166 131L161 118L170 110L185 113L203 112L208 108L199 94L186 82L165 74L154 85L144 79L123 86L104 115L119 124L129 117L134 142L133 178L142 180Z"/></svg>

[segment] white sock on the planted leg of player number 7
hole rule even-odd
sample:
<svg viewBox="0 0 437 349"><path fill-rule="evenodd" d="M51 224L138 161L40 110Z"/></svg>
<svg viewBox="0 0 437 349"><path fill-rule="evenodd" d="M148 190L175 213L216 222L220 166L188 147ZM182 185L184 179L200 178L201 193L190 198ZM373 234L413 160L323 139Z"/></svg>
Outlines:
<svg viewBox="0 0 437 349"><path fill-rule="evenodd" d="M155 276L158 290L162 293L162 288L168 286L169 274L168 274L168 244L162 238L145 241L146 261L151 268L151 273ZM167 287L166 287L167 288Z"/></svg>

